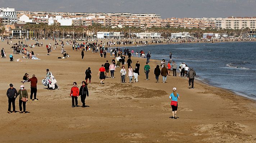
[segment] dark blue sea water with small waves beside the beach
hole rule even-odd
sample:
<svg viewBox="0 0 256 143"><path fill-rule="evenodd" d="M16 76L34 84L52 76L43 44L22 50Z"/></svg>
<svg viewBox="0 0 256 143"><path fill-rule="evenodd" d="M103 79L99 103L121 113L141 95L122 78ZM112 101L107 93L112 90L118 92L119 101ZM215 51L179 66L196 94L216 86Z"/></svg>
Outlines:
<svg viewBox="0 0 256 143"><path fill-rule="evenodd" d="M176 43L127 48L130 51L134 49L134 55L136 51L143 50L145 55L150 51L151 59L165 59L165 64L168 64L169 53L172 52L177 71L180 63L184 62L196 71L196 79L256 100L255 42Z"/></svg>

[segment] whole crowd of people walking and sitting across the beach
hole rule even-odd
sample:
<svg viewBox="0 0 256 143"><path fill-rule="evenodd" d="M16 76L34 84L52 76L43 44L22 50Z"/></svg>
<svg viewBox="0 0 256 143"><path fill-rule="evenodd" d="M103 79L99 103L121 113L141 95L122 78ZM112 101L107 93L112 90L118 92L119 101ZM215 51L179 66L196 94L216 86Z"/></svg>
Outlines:
<svg viewBox="0 0 256 143"><path fill-rule="evenodd" d="M96 43L81 43L78 44L76 41L67 41L66 44L72 44L72 49L79 51L81 50L81 56L82 59L84 59L84 51L88 51L91 50L92 53L98 53L99 52L99 56L106 58L106 55L108 53L108 48L104 48L105 44L98 44ZM101 41L102 42L102 41ZM162 41L151 41L152 43L161 43ZM113 44L119 44L120 45L120 41L119 42L107 42L107 46L112 46ZM136 44L148 44L147 42L144 41L136 41ZM133 41L122 41L122 44L133 44ZM59 45L58 43L56 43L55 40L55 44L54 46L56 47L56 45ZM66 50L64 50L64 42L61 41L61 54L67 56ZM28 53L28 50L25 48L19 49L21 46L17 45L17 46L13 46L12 48L14 49L14 54L18 54L18 53L24 53L24 58L31 58L31 55L33 55L33 51L31 51L30 53ZM46 45L46 49L47 49L47 53L48 55L51 54L51 49L52 46L51 44ZM54 48L56 49L56 48ZM150 51L148 51L148 53L145 55L145 52L143 50L141 50L139 53L135 52L133 49L129 50L128 48L124 48L121 49L119 48L110 48L110 57L113 57L113 59L111 60L111 62L109 63L108 60L106 60L105 64L102 64L100 69L99 69L99 73L98 76L100 78L100 84L104 84L104 80L106 78L109 78L109 76L111 76L111 78L115 78L115 71L117 70L117 68L120 68L120 82L121 83L126 83L126 77L128 77L129 79L129 83L135 83L138 82L138 76L140 75L140 63L139 61L137 61L137 63L135 64L135 66L132 65L132 56L138 57L138 54L140 53L140 58L146 58L146 62L145 65L143 67L144 73L145 73L145 77L146 80L149 80L149 73L150 73L150 58L151 58L151 53ZM5 58L5 50L4 48L1 50L1 56L2 58ZM127 60L125 60L127 58ZM155 74L155 79L156 79L156 83L159 83L159 76L161 75L163 78L163 83L166 83L167 81L167 77L171 76L171 71L173 71L173 76L176 77L176 69L177 69L177 64L175 63L175 61L172 60L172 53L170 53L169 55L170 60L168 61L168 64L165 63L165 59L163 59L161 61L160 65L156 65L156 68L154 69L154 74ZM122 64L122 65L121 65ZM134 63L133 63L134 64ZM188 68L187 64L185 63L181 63L179 65L180 70L180 77L187 77L189 79L189 88L193 89L194 85L194 78L196 75L196 72L193 70L193 68ZM189 70L189 71L188 71ZM109 75L109 71L110 71L110 75ZM73 82L73 87L71 88L70 91L70 97L72 98L72 107L78 107L78 97L81 96L81 102L82 102L82 107L86 107L85 104L85 99L86 97L88 97L88 88L87 88L87 83L91 84L91 68L88 67L88 69L86 69L85 71L85 81L82 81L82 85L80 88L77 87L77 83ZM89 79L89 82L88 82ZM8 113L12 113L11 112L11 104L13 105L13 113L15 113L15 99L19 96L19 109L20 109L20 113L27 113L26 112L26 102L28 101L28 92L24 87L24 83L31 83L31 95L30 95L30 100L32 101L37 101L38 99L36 98L37 95L37 78L35 77L35 75L33 74L33 77L30 78L29 75L26 73L23 77L23 81L22 81L22 85L20 86L19 91L17 92L17 90L13 87L13 84L10 84L10 88L7 90L7 97L8 97ZM45 86L47 86L47 89L59 89L58 85L56 84L56 79L54 77L54 75L51 73L51 71L49 71L49 69L46 69L46 77L42 80L42 84L44 84ZM176 88L173 88L173 93L170 94L170 99L172 100L172 102L170 103L172 106L172 118L177 119L177 108L178 108L178 99L179 99L179 94L176 92ZM33 95L34 95L34 99L33 99ZM22 108L23 106L23 108ZM23 109L23 110L22 110Z"/></svg>

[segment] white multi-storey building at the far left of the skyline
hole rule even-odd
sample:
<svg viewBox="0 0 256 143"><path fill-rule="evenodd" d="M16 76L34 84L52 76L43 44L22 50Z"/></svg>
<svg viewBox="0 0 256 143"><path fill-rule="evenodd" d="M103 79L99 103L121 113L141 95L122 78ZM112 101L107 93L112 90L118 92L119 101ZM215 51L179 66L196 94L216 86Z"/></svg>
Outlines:
<svg viewBox="0 0 256 143"><path fill-rule="evenodd" d="M14 24L17 23L18 18L17 18L17 12L15 11L14 8L0 8L0 18L1 18L1 23L4 25L6 24Z"/></svg>

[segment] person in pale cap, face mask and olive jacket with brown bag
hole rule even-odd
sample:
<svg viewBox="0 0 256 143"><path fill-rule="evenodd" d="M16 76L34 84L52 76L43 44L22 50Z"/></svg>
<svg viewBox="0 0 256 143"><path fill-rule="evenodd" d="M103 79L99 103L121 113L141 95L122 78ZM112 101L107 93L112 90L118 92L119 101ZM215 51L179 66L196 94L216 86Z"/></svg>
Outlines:
<svg viewBox="0 0 256 143"><path fill-rule="evenodd" d="M26 102L28 101L28 92L26 89L24 89L24 85L20 85L20 90L18 91L18 94L16 94L15 98L17 98L18 95L19 95L19 113L26 113ZM23 112L22 112L22 104L23 104Z"/></svg>

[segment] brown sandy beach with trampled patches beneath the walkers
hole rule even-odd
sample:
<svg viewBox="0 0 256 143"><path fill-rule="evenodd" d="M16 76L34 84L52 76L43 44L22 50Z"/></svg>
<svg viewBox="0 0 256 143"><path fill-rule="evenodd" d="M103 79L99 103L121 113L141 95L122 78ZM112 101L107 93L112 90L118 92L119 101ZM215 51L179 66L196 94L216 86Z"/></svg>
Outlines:
<svg viewBox="0 0 256 143"><path fill-rule="evenodd" d="M81 51L73 51L72 45L65 45L71 57L58 59L61 46L47 55L45 45L54 44L54 41L38 40L39 43L41 41L43 47L28 48L41 60L22 59L22 62L16 61L22 58L21 54L14 54L15 61L9 61L13 49L10 49L11 45L6 45L7 41L0 41L0 48L5 49L7 56L0 59L1 143L256 142L254 100L199 81L195 81L195 89L188 89L187 78L168 76L167 83L162 83L160 76L160 83L156 83L154 68L160 61L153 59L149 64L149 80L145 80L143 66L146 59L135 57L131 58L132 66L137 60L141 64L138 83L121 84L121 68L116 68L116 78L107 78L102 85L97 73L101 64L112 60L109 53L107 58L100 58L99 53L84 52L82 60ZM26 42L35 44L35 40ZM18 43L18 40L13 40L14 43ZM73 82L81 86L88 67L92 70L92 84L88 85L86 105L90 107L72 108L70 89ZM59 90L47 90L42 85L45 69L50 69L54 74ZM36 75L39 100L28 100L26 108L29 113L8 114L6 91L10 83L18 90L24 73L31 77L32 74ZM24 87L30 95L30 83L24 83ZM169 118L172 116L169 95L173 87L177 88L180 95L178 119ZM18 111L18 99L15 103ZM82 105L80 97L78 105Z"/></svg>

